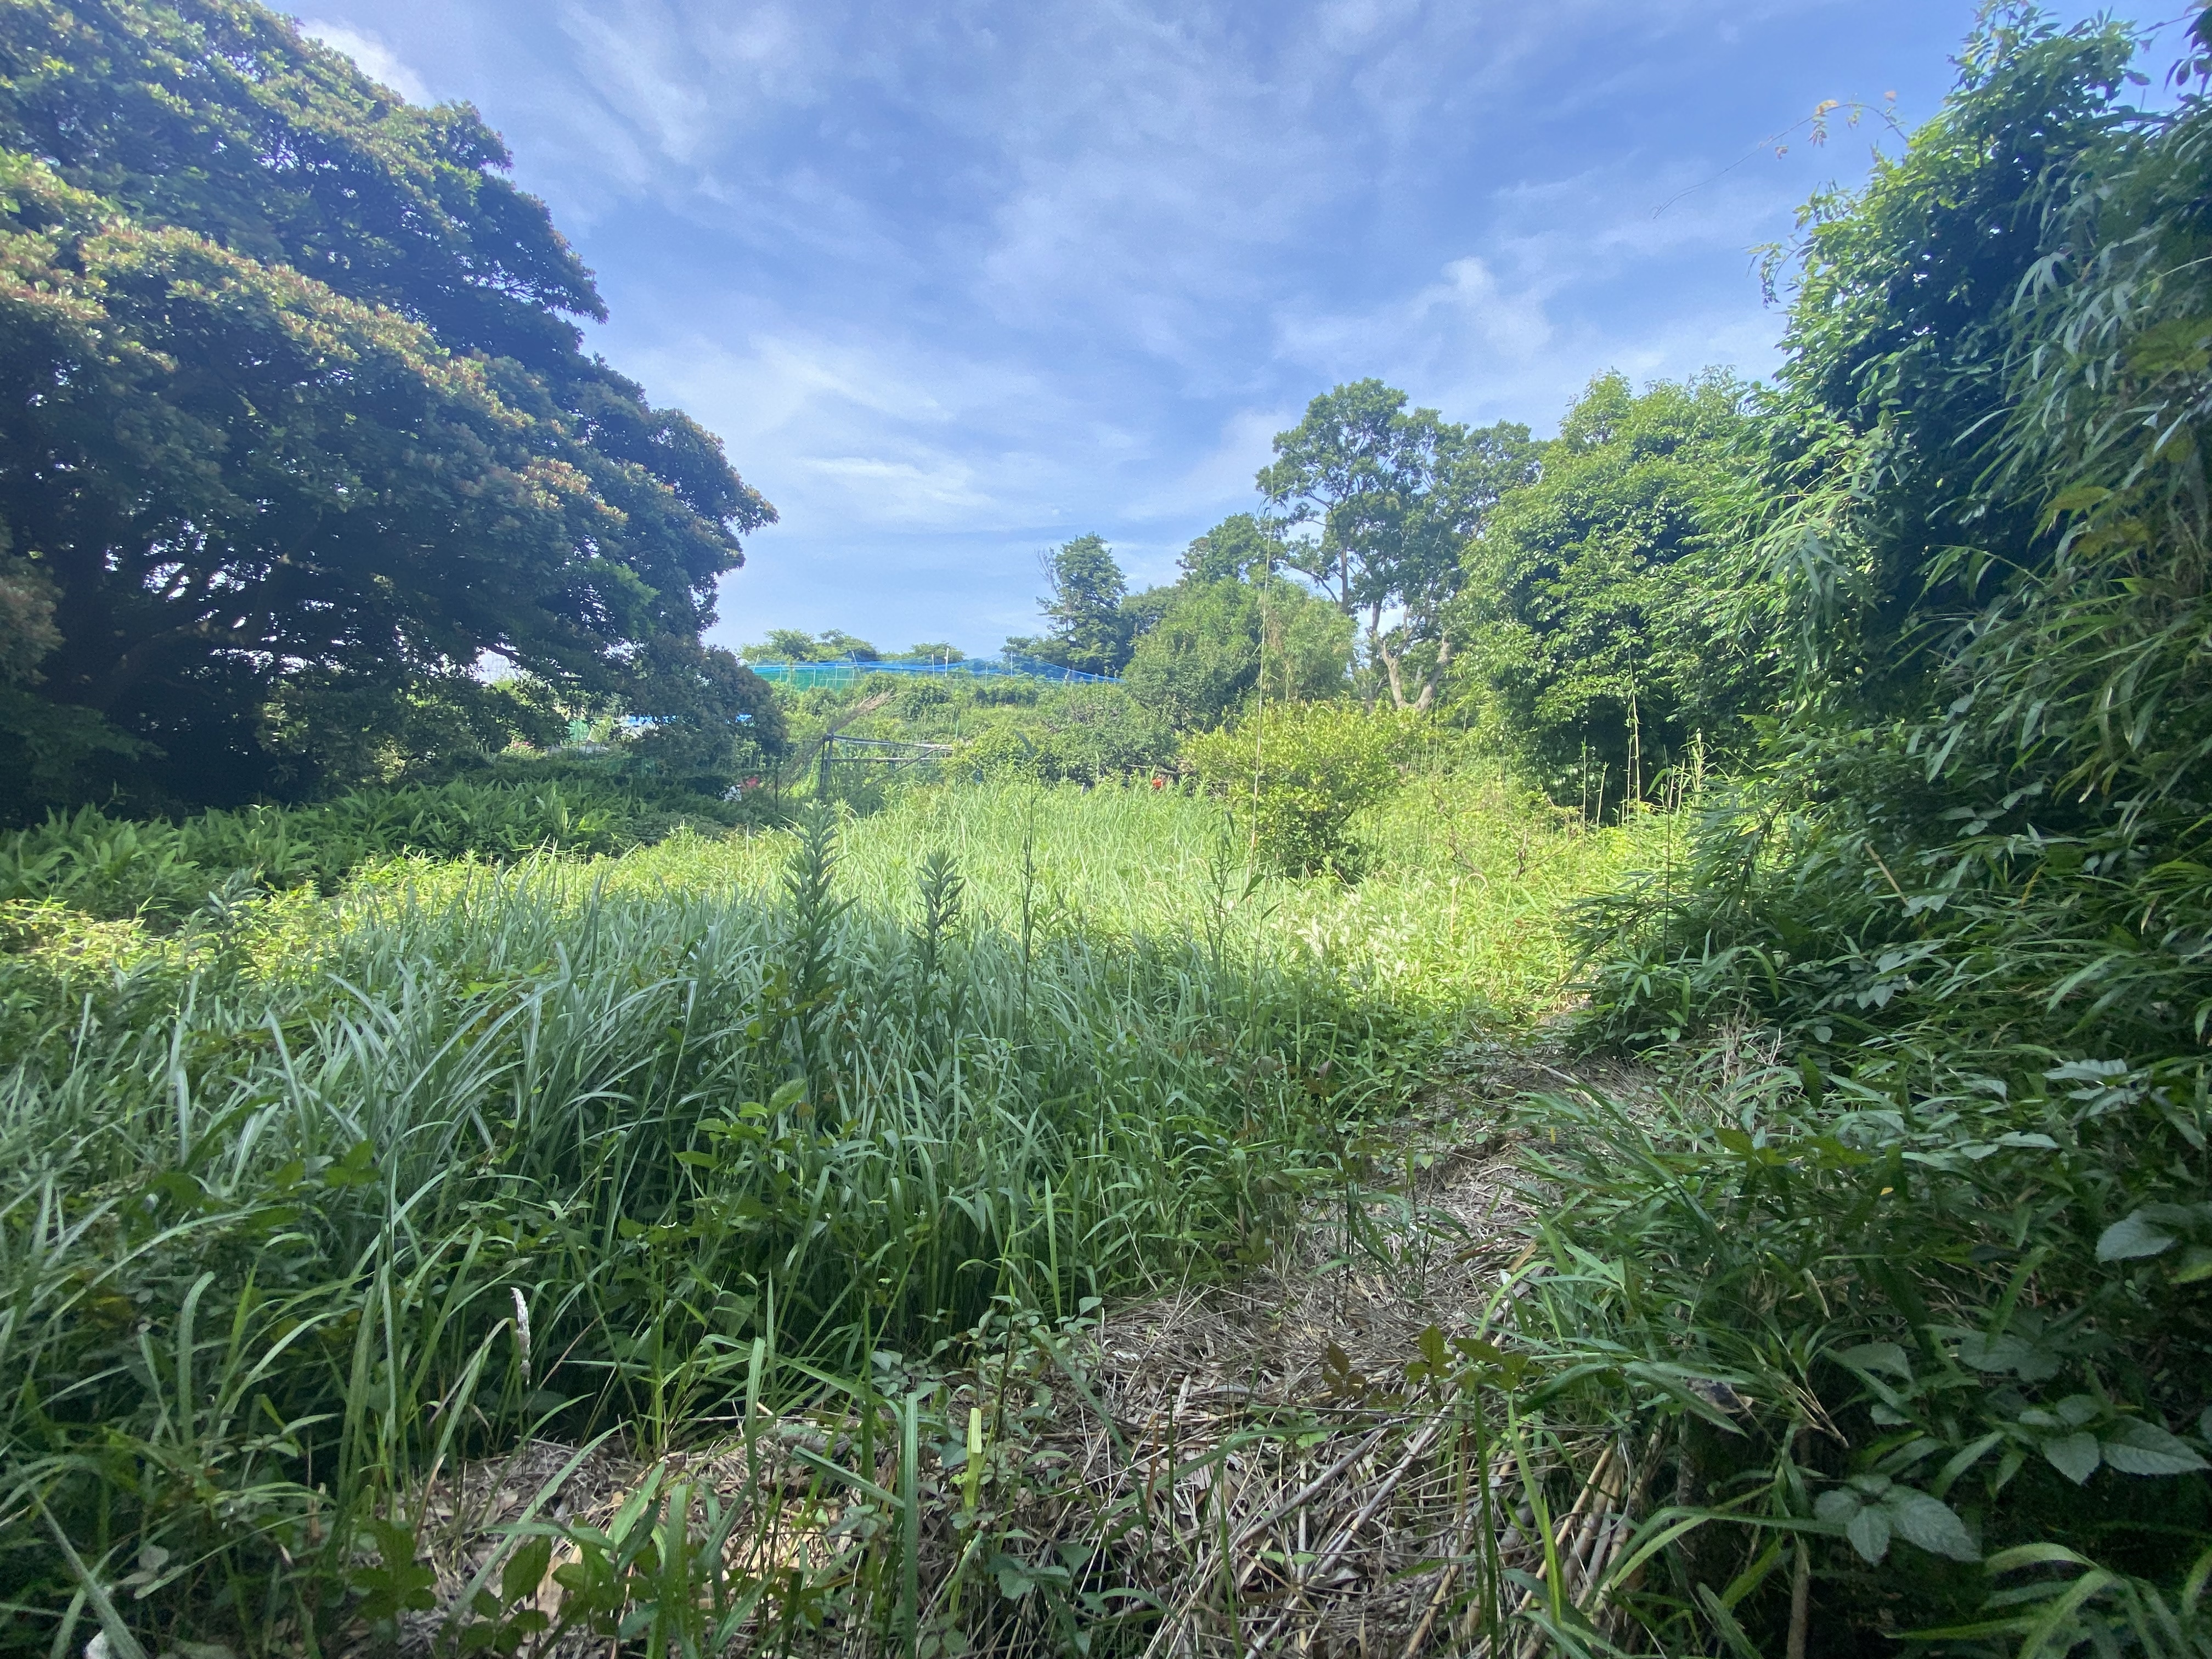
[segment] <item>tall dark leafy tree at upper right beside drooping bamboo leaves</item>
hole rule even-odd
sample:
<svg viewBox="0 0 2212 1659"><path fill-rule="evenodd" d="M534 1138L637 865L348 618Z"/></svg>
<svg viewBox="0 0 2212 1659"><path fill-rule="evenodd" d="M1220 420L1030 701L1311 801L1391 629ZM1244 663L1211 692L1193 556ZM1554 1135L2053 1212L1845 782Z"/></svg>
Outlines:
<svg viewBox="0 0 2212 1659"><path fill-rule="evenodd" d="M1798 243L1774 252L1770 283L1794 257L1796 296L1761 422L1765 465L1732 513L1745 531L1732 591L1745 628L1790 635L1814 703L1854 719L1916 712L1942 695L1991 577L2057 546L2037 522L2051 480L2002 465L2020 442L2008 405L2037 407L2037 378L2124 367L2081 347L2130 338L2143 294L2081 279L2154 246L2128 221L2141 204L2106 204L2099 223L2097 204L2143 177L2139 148L2152 144L2183 190L2201 177L2188 124L2119 102L2132 51L2117 27L2055 35L2033 7L1993 7L1942 115L1860 192L1809 201ZM2039 296L2084 292L2119 314L2079 334L2051 327ZM2013 385L2028 363L2042 374ZM2121 385L2108 376L2101 392ZM2062 425L2110 440L2108 420Z"/></svg>

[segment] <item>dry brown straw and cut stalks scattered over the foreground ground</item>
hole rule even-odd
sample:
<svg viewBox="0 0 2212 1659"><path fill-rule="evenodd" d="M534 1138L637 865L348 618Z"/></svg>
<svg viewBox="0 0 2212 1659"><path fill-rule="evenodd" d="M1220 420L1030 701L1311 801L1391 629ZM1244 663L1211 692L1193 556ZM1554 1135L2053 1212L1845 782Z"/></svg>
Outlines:
<svg viewBox="0 0 2212 1659"><path fill-rule="evenodd" d="M1513 1296L1540 1270L1515 1146L1495 1133L1484 1099L1571 1079L1504 1057L1478 1077L1480 1088L1371 1150L1407 1179L1371 1197L1363 1219L1316 1214L1259 1270L1113 1310L1077 1338L1082 1352L1046 1338L1024 1345L1020 1363L1009 1347L1004 1365L936 1378L949 1396L942 1420L964 1420L969 1405L989 1411L993 1451L973 1517L962 1515L960 1469L929 1451L920 1458L922 1650L1062 1650L1057 1590L1062 1608L1095 1597L1093 1652L1533 1659L1542 1650L1533 1628L1484 1635L1484 1601L1495 1619L1500 1597L1509 1615L1548 1597L1548 1586L1498 1579L1506 1566L1546 1582L1522 1491L1531 1473L1577 1491L1553 1517L1555 1559L1564 1599L1604 1619L1588 1606L1590 1586L1648 1506L1652 1449L1548 1444L1537 1469L1500 1451L1478 1469L1464 1420L1407 1383L1431 1327L1447 1338L1509 1334ZM1637 1093L1632 1077L1604 1082L1615 1099ZM896 1438L876 1449L874 1482L891 1491ZM858 1455L849 1418L763 1411L750 1438L670 1453L657 1471L664 1489L688 1482L743 1504L723 1551L732 1584L856 1586L869 1573L869 1540L880 1555L894 1517L823 1482L821 1467L856 1469ZM586 1455L533 1442L436 1480L422 1522L442 1608L484 1579L518 1522L604 1528L653 1469L615 1440ZM1475 1531L1484 1515L1504 1517L1486 1575ZM1033 1590L1020 1575L987 1571L991 1559L1015 1559L1006 1551L1042 1564ZM566 1557L573 1551L555 1566ZM1478 1579L1491 1597L1475 1595ZM538 1606L555 1615L560 1597L546 1573ZM403 1646L438 1646L447 1617L418 1615ZM947 1644L949 1630L958 1635ZM832 1610L805 1632L757 1619L732 1652L900 1648L896 1621ZM560 1652L615 1650L606 1637L568 1637Z"/></svg>

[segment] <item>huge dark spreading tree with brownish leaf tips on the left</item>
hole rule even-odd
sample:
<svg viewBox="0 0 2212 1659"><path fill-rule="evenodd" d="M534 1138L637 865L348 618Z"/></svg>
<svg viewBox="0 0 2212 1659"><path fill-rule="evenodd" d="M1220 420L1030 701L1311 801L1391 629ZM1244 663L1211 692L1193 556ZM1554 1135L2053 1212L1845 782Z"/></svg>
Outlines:
<svg viewBox="0 0 2212 1659"><path fill-rule="evenodd" d="M641 646L774 513L582 352L591 274L504 168L261 7L0 9L0 533L53 633L18 790L310 785L279 684L361 710L487 653L655 701Z"/></svg>

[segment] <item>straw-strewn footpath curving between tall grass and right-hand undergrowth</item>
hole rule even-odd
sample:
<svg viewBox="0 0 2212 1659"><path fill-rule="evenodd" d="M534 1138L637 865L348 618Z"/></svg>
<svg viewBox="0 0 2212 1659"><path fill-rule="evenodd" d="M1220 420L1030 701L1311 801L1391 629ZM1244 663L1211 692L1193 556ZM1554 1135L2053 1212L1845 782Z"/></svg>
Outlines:
<svg viewBox="0 0 2212 1659"><path fill-rule="evenodd" d="M1146 1655L1464 1646L1458 1557L1480 1473L1464 1427L1407 1367L1425 1332L1489 1338L1509 1321L1533 1245L1500 1104L1579 1086L1632 1099L1648 1079L1478 1057L1374 1150L1378 1177L1396 1179L1360 1221L1316 1214L1267 1267L1104 1323L1093 1389L1121 1444L1091 1407L1071 1409L1060 1438L1093 1513L1148 1517L1117 1559L1170 1615Z"/></svg>

